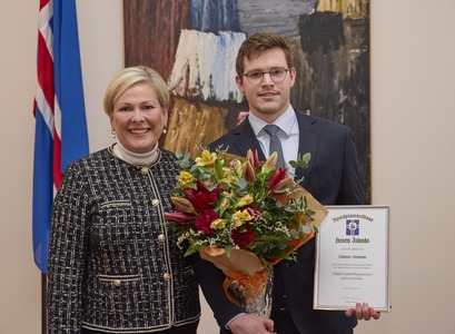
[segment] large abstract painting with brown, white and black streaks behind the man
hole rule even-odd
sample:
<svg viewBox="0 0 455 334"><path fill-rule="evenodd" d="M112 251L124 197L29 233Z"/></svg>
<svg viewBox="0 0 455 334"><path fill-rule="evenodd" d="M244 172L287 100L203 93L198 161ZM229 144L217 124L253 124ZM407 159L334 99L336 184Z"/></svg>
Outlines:
<svg viewBox="0 0 455 334"><path fill-rule="evenodd" d="M353 129L370 203L368 0L123 0L126 66L147 65L171 92L171 151L198 154L248 111L235 84L241 42L258 31L293 47L296 110Z"/></svg>

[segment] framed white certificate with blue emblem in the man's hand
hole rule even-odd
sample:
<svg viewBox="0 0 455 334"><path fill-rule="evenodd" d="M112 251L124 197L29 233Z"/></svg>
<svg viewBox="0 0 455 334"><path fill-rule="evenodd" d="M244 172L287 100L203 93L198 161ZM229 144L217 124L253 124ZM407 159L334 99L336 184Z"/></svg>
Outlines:
<svg viewBox="0 0 455 334"><path fill-rule="evenodd" d="M326 206L316 235L314 308L389 312L389 207Z"/></svg>

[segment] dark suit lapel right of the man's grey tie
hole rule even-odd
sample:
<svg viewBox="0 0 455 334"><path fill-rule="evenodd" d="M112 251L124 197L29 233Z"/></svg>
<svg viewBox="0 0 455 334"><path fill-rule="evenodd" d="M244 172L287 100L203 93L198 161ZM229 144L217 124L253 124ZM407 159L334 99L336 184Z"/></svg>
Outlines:
<svg viewBox="0 0 455 334"><path fill-rule="evenodd" d="M316 148L319 141L319 131L313 127L317 119L314 117L308 117L301 115L300 112L297 114L297 121L299 128L299 145L298 145L298 154L303 156L306 153L311 155L311 159L309 160L309 167L307 169L297 168L295 180L300 180L300 185L305 187L306 180L308 179L309 174L313 169L313 161L316 160Z"/></svg>

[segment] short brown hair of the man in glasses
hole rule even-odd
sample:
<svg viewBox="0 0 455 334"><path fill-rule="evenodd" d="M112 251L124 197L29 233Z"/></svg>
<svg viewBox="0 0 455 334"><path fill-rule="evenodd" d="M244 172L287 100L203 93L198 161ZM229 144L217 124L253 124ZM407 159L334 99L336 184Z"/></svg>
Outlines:
<svg viewBox="0 0 455 334"><path fill-rule="evenodd" d="M293 67L293 53L285 39L271 32L256 32L248 37L240 46L236 59L236 71L241 77L245 70L245 59L259 57L267 50L280 48L285 52L288 67Z"/></svg>

